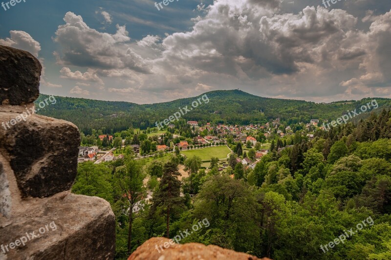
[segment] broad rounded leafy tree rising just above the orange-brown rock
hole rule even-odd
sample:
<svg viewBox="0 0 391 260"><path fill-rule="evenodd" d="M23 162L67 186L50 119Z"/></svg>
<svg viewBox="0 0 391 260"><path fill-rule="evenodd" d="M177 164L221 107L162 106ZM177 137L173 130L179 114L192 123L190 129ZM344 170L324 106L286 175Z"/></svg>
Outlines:
<svg viewBox="0 0 391 260"><path fill-rule="evenodd" d="M228 175L211 176L201 187L194 204L195 218L213 220L204 241L237 251L254 249L255 200L243 180Z"/></svg>

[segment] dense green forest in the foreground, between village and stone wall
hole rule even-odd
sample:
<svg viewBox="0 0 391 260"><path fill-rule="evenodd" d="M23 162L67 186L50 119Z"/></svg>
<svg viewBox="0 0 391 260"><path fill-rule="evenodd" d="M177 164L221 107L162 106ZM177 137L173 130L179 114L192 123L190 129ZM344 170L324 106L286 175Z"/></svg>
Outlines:
<svg viewBox="0 0 391 260"><path fill-rule="evenodd" d="M292 110L303 108L304 116L298 118L312 117L322 109L327 118L344 107L291 102ZM240 107L238 115L254 108L251 102ZM143 108L151 110L152 105ZM276 105L275 113L278 109ZM286 115L295 113L285 110ZM226 116L224 120L234 120ZM301 131L283 140L277 136L254 169L235 160L241 148L224 171L217 169L215 158L206 171L199 158L184 158L179 151L162 153L145 167L145 161L135 160L130 152L113 162L79 164L72 192L110 202L117 223L116 259L127 259L151 237L174 238L207 219L208 227L180 243L214 244L274 260L388 260L390 127L391 111L382 109L357 123L317 130L312 140ZM180 181L182 164L189 176ZM151 203L142 202L147 190L153 191ZM141 205L140 210L130 211L135 205ZM336 240L343 234L346 240Z"/></svg>

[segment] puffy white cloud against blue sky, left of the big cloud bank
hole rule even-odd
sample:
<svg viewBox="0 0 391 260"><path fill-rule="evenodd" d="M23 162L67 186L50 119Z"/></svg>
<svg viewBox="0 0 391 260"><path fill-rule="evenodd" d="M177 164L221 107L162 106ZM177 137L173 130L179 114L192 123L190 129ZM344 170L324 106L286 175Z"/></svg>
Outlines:
<svg viewBox="0 0 391 260"><path fill-rule="evenodd" d="M65 14L64 21L54 38L62 46L62 52L56 52L58 63L151 73L150 66L134 52L125 25L117 25L112 35L88 27L81 16L72 12Z"/></svg>

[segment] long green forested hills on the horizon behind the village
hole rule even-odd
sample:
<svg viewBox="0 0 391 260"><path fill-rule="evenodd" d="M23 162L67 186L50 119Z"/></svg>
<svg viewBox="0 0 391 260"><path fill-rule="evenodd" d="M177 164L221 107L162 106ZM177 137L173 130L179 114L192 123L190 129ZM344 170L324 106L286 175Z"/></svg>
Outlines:
<svg viewBox="0 0 391 260"><path fill-rule="evenodd" d="M55 97L56 104L46 105L38 113L57 119L71 121L81 131L89 134L91 129L102 129L112 133L128 129L130 126L141 129L154 127L155 121L162 121L179 111L179 108L192 105L192 102L206 95L201 104L188 112L182 119L201 122L215 121L231 124L266 123L280 118L288 124L309 122L311 119L335 120L346 111L358 109L372 99L314 103L303 100L283 100L262 98L240 90L217 90L198 97L179 99L170 102L139 105L130 102L101 101L79 98ZM36 104L48 98L41 94ZM376 98L379 107L391 106L390 99ZM380 112L380 109L377 109ZM364 116L364 115L361 115Z"/></svg>

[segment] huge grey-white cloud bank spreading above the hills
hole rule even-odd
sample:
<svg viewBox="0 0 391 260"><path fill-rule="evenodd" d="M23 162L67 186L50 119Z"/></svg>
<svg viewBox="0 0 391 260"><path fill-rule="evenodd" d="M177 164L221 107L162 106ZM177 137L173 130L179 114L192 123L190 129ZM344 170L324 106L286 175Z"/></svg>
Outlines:
<svg viewBox="0 0 391 260"><path fill-rule="evenodd" d="M293 13L280 5L280 0L215 0L207 7L201 2L188 31L141 40L132 40L125 25L104 33L68 12L54 38L57 62L64 66L60 77L78 81L75 94L85 91L79 86L105 80L110 88L97 98L146 103L238 87L321 102L390 96L391 12L357 17L307 6ZM86 72L72 72L72 66Z"/></svg>

